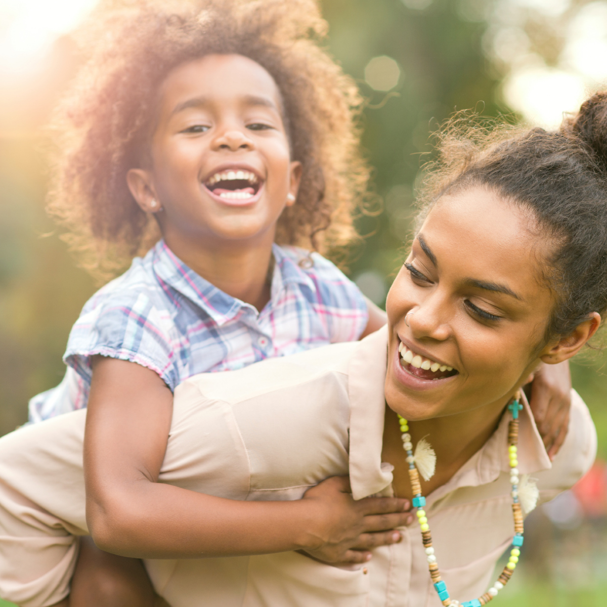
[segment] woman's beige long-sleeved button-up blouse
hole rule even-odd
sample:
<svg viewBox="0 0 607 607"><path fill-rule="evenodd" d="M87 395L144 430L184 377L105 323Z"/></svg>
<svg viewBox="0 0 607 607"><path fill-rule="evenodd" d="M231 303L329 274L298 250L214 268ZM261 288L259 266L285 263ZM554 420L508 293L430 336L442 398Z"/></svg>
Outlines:
<svg viewBox="0 0 607 607"><path fill-rule="evenodd" d="M320 480L350 473L354 498L390 493L392 466L381 462L386 346L384 328L362 342L188 379L175 390L160 482L236 500L296 500ZM67 594L73 534L87 533L85 416L68 413L0 439L0 595L24 607ZM441 574L460 601L486 591L513 535L507 421L427 497ZM596 435L574 392L568 436L552 464L527 404L519 444L518 467L537 478L545 501L588 470ZM438 607L419 526L402 531L401 543L375 549L360 567L296 552L146 567L173 607Z"/></svg>

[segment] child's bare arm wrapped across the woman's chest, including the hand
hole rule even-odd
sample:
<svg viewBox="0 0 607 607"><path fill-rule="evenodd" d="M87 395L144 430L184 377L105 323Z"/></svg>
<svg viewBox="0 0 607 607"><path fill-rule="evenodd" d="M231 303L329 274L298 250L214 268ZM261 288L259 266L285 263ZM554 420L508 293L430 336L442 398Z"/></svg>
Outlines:
<svg viewBox="0 0 607 607"><path fill-rule="evenodd" d="M108 552L200 558L304 549L325 561L362 562L366 549L398 541L398 532L385 530L411 517L405 500L354 501L344 478L330 478L296 501L227 500L155 482L172 393L154 371L133 362L93 358L88 408L87 522Z"/></svg>

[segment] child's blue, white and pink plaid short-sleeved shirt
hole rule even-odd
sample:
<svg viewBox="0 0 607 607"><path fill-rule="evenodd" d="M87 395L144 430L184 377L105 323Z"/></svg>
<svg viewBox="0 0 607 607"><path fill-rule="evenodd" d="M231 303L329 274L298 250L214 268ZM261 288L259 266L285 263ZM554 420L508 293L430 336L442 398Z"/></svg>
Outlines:
<svg viewBox="0 0 607 607"><path fill-rule="evenodd" d="M278 245L273 253L271 299L259 313L160 240L84 305L67 343L66 375L31 399L30 421L86 407L94 354L137 362L174 390L197 373L358 339L368 320L358 287L317 253Z"/></svg>

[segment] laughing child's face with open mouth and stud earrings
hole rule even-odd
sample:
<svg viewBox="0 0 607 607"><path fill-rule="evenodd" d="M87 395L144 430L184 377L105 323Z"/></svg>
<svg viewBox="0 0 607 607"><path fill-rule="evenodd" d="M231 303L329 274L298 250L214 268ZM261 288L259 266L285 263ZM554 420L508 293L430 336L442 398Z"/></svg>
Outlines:
<svg viewBox="0 0 607 607"><path fill-rule="evenodd" d="M270 74L244 56L208 55L164 80L151 167L128 180L141 208L163 207L168 242L220 246L273 240L300 172Z"/></svg>

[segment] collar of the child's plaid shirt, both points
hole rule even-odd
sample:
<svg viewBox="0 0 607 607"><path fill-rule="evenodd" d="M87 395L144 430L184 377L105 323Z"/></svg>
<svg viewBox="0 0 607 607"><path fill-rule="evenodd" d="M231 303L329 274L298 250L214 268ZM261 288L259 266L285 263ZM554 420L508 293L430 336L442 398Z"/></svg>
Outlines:
<svg viewBox="0 0 607 607"><path fill-rule="evenodd" d="M271 290L273 301L290 284L305 285L313 293L316 292L314 281L294 260L285 255L280 246L273 244L272 253L275 262ZM179 306L179 302L172 296L171 289L202 308L219 326L234 319L243 310L248 310L249 314L257 314L253 305L224 293L191 270L169 249L163 239L152 249L152 269L161 287L174 300L175 305Z"/></svg>

